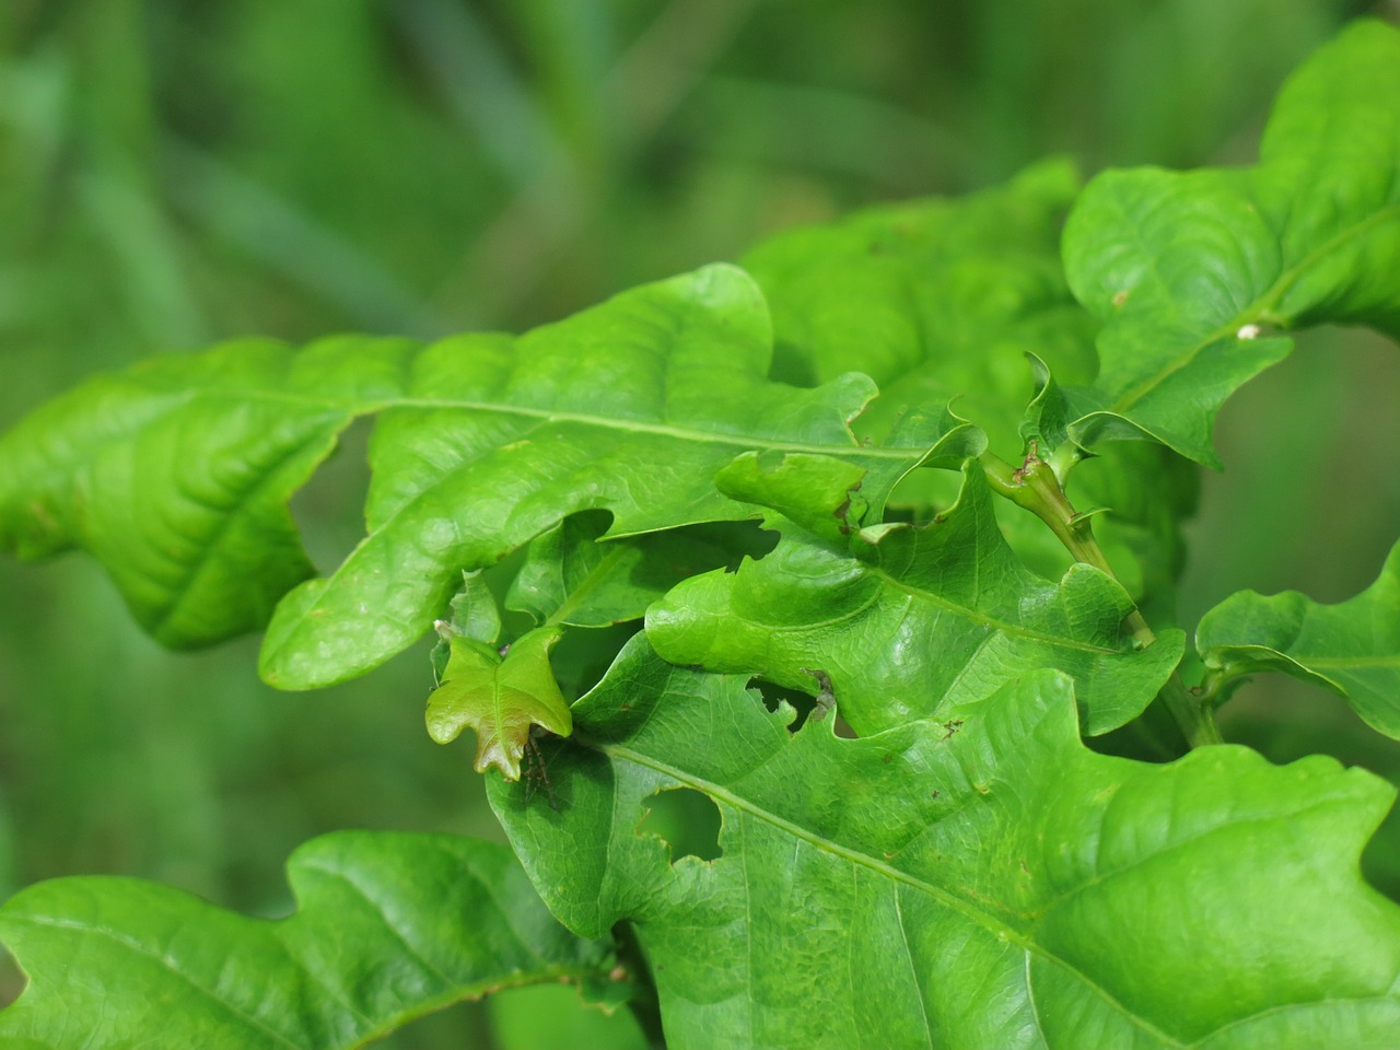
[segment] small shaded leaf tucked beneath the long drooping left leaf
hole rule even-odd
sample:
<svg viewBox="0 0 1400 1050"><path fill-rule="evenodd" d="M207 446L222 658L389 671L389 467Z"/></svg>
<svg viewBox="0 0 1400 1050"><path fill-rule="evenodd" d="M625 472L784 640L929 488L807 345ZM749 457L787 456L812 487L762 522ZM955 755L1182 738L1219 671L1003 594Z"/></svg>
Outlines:
<svg viewBox="0 0 1400 1050"><path fill-rule="evenodd" d="M640 620L686 577L736 564L763 546L750 525L725 522L599 543L606 532L606 514L585 512L533 539L505 608L575 627Z"/></svg>

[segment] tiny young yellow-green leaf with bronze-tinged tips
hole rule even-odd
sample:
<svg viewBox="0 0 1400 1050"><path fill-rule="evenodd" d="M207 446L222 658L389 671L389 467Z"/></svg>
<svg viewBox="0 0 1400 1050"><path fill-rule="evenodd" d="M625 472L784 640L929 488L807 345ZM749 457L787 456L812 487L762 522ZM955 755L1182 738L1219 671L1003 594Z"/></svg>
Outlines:
<svg viewBox="0 0 1400 1050"><path fill-rule="evenodd" d="M494 645L451 638L442 683L428 697L428 735L451 743L470 727L476 731L472 767L486 773L496 766L507 780L519 780L531 727L556 736L574 731L549 666L549 650L563 633L563 627L538 627L521 636L504 659Z"/></svg>

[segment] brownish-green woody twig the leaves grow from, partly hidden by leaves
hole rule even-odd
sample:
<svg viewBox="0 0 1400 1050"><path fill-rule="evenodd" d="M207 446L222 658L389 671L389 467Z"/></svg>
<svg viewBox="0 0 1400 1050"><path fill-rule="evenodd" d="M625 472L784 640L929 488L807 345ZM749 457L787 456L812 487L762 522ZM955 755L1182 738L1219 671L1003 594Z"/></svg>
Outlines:
<svg viewBox="0 0 1400 1050"><path fill-rule="evenodd" d="M1075 512L1070 498L1057 477L1057 470L1042 459L1036 442L1019 468L1012 468L1001 456L983 452L979 458L991 487L1018 507L1023 507L1050 526L1050 531L1064 543L1077 561L1093 566L1114 580L1113 567L1103 556L1103 549L1093 538L1093 525L1088 514ZM1142 613L1134 609L1123 620L1124 629L1142 645L1156 641L1156 634ZM1193 748L1205 743L1222 743L1219 728L1208 704L1203 704L1186 689L1182 676L1172 672L1166 685L1158 693L1166 710L1170 711L1186 742Z"/></svg>

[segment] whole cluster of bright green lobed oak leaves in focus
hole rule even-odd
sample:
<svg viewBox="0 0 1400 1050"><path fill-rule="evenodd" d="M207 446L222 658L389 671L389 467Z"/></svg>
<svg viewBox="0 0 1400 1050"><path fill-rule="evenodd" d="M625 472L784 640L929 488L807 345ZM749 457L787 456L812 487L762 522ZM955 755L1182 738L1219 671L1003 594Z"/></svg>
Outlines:
<svg viewBox="0 0 1400 1050"><path fill-rule="evenodd" d="M1173 582L1182 456L1278 332L1400 335L1397 70L1348 28L1254 168L1049 164L519 337L239 340L35 412L6 546L87 550L171 645L266 627L287 689L437 626L428 729L475 728L515 858L319 840L280 924L42 883L0 909L32 979L0 1032L356 1046L564 977L676 1047L1392 1046L1400 909L1358 860L1393 791L1214 713L1285 669L1396 735L1394 574L1226 598L1194 654ZM287 503L358 417L365 535L312 578ZM673 792L710 858L648 827Z"/></svg>

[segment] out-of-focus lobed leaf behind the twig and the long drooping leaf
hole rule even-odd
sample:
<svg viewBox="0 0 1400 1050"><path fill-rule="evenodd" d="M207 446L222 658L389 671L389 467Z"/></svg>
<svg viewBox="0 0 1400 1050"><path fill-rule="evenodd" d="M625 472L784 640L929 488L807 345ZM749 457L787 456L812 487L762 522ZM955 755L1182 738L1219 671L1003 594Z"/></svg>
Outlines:
<svg viewBox="0 0 1400 1050"><path fill-rule="evenodd" d="M953 400L994 449L1018 458L1032 381L1042 378L1028 354L1061 384L1088 384L1099 367L1098 323L1075 304L1060 260L1078 188L1071 165L1049 161L966 197L876 207L763 242L743 265L773 311L774 371L808 382L850 370L874 377L881 396L854 423L874 438L889 434L903 410ZM1067 440L1067 423L1050 428L1051 445ZM1040 447L1049 451L1046 441ZM1163 623L1175 619L1179 522L1194 510L1196 479L1184 466L1162 448L1119 445L1072 480L1077 503L1110 508L1100 540L1128 592L1151 596ZM893 504L925 512L955 498L953 479L920 470ZM1009 510L1000 524L1046 578L1058 580L1071 564L1029 515Z"/></svg>

